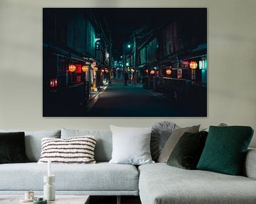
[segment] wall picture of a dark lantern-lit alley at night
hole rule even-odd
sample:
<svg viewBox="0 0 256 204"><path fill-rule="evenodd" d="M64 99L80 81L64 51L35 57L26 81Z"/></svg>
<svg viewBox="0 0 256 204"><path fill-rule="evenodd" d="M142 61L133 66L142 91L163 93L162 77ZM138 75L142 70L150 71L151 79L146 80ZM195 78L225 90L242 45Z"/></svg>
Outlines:
<svg viewBox="0 0 256 204"><path fill-rule="evenodd" d="M207 117L207 8L43 8L43 117Z"/></svg>

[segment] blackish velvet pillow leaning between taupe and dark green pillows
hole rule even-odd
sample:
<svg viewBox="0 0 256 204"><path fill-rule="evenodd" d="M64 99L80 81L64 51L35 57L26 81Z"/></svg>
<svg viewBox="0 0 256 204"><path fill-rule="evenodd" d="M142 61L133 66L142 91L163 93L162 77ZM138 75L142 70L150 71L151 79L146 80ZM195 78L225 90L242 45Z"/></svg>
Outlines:
<svg viewBox="0 0 256 204"><path fill-rule="evenodd" d="M169 166L176 166L181 169L196 169L198 160L203 152L208 132L185 132L167 161Z"/></svg>

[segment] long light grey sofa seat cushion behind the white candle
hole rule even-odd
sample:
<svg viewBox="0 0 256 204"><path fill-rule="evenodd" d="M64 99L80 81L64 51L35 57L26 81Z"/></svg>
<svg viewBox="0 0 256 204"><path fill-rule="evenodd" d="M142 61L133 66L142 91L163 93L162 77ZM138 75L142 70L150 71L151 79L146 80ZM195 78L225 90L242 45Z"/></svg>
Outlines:
<svg viewBox="0 0 256 204"><path fill-rule="evenodd" d="M52 164L56 191L138 191L137 168L127 164ZM47 164L1 164L0 191L43 191Z"/></svg>

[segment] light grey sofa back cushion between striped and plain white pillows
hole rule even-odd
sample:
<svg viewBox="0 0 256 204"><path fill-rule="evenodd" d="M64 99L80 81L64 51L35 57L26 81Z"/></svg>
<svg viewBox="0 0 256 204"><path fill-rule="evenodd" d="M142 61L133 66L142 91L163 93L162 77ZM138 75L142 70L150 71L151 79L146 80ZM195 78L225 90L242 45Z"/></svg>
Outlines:
<svg viewBox="0 0 256 204"><path fill-rule="evenodd" d="M93 135L97 140L95 145L96 162L109 162L112 155L112 133L110 130L61 129L61 138L63 139L84 135Z"/></svg>

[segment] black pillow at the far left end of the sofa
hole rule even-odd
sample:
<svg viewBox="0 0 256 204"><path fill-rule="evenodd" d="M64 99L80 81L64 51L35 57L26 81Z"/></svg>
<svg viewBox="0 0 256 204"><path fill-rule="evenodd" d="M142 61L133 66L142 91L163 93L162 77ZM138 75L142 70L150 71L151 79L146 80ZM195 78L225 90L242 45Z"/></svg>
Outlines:
<svg viewBox="0 0 256 204"><path fill-rule="evenodd" d="M28 162L24 132L0 132L0 164Z"/></svg>

